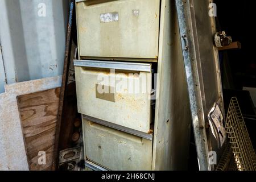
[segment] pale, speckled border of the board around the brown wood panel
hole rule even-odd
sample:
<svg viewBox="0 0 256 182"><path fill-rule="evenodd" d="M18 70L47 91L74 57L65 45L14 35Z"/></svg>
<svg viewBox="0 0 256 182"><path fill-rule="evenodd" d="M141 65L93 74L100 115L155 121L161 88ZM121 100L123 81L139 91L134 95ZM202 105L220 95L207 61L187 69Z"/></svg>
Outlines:
<svg viewBox="0 0 256 182"><path fill-rule="evenodd" d="M0 94L0 170L28 170L16 97L61 86L61 76L5 85Z"/></svg>

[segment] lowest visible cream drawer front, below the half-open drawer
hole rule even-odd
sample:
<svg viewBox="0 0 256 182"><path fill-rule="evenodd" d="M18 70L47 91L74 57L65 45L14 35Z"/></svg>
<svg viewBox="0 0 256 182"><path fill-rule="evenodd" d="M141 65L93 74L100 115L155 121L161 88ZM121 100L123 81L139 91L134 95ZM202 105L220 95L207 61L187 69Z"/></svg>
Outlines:
<svg viewBox="0 0 256 182"><path fill-rule="evenodd" d="M88 160L112 171L151 171L152 140L83 120Z"/></svg>

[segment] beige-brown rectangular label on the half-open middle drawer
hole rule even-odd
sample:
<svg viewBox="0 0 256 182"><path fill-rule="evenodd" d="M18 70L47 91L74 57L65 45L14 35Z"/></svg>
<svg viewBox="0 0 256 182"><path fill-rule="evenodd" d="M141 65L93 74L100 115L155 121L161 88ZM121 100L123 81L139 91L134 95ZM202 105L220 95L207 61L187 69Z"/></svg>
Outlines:
<svg viewBox="0 0 256 182"><path fill-rule="evenodd" d="M112 93L115 88L112 86L96 84L96 98L101 100L115 102L115 93Z"/></svg>

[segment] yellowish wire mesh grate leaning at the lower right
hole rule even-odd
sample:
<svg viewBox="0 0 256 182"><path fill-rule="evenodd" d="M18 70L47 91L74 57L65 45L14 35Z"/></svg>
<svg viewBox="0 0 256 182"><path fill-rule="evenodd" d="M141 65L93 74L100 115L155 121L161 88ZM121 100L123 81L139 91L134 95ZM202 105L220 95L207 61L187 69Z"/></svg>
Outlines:
<svg viewBox="0 0 256 182"><path fill-rule="evenodd" d="M230 101L225 128L238 171L255 171L255 152L236 97Z"/></svg>

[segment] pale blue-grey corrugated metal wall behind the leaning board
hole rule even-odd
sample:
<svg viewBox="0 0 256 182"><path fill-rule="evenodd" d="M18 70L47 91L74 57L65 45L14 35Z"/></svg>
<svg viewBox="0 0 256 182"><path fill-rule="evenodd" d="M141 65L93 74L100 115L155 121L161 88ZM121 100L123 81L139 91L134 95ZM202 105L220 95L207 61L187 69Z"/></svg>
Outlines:
<svg viewBox="0 0 256 182"><path fill-rule="evenodd" d="M62 74L68 7L68 0L0 0L0 93L5 80Z"/></svg>

